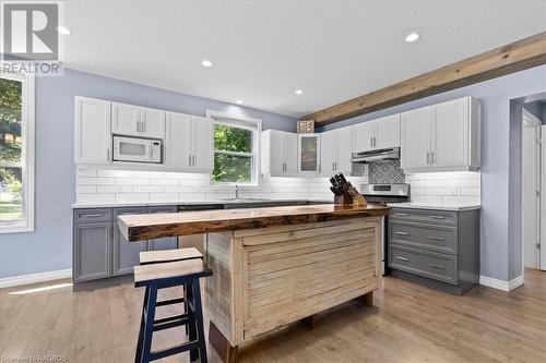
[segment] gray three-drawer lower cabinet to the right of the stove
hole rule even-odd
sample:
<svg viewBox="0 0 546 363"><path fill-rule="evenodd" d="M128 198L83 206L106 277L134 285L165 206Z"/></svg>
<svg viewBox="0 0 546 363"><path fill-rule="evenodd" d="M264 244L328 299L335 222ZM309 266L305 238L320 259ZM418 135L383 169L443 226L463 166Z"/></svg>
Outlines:
<svg viewBox="0 0 546 363"><path fill-rule="evenodd" d="M392 274L463 294L479 281L479 209L393 208L388 227Z"/></svg>

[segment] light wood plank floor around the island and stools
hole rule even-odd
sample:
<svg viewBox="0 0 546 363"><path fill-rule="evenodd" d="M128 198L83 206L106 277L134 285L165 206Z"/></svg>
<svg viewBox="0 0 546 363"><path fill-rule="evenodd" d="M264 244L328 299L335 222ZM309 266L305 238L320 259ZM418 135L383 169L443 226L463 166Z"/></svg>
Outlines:
<svg viewBox="0 0 546 363"><path fill-rule="evenodd" d="M55 281L0 290L0 361L67 355L70 362L132 362L143 291L131 283L72 292L13 294ZM169 314L170 312L166 312ZM186 339L161 331L154 347ZM384 279L375 306L356 302L241 346L239 362L546 362L546 273L505 293L478 287L452 297ZM210 361L218 356L209 349ZM188 362L186 354L166 362Z"/></svg>

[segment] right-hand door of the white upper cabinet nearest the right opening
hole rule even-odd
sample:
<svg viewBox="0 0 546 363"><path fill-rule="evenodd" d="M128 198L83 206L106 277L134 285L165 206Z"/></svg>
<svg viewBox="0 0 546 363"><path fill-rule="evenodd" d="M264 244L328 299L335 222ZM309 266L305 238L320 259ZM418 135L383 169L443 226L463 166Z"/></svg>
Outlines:
<svg viewBox="0 0 546 363"><path fill-rule="evenodd" d="M436 105L431 129L432 167L468 165L468 99Z"/></svg>

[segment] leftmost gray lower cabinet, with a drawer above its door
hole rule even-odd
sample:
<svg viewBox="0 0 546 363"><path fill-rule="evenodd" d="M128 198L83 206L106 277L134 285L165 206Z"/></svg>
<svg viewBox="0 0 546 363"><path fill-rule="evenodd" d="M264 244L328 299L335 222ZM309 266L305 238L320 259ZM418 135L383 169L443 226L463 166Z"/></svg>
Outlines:
<svg viewBox="0 0 546 363"><path fill-rule="evenodd" d="M111 240L110 210L74 213L72 277L75 282L111 276Z"/></svg>

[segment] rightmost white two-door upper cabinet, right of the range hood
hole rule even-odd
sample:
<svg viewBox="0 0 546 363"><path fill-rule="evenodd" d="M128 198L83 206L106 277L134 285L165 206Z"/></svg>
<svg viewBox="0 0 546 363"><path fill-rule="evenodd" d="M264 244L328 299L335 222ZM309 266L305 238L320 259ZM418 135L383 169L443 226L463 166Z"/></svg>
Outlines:
<svg viewBox="0 0 546 363"><path fill-rule="evenodd" d="M464 97L404 112L401 135L404 170L478 170L479 100Z"/></svg>

